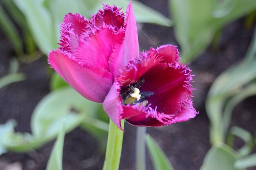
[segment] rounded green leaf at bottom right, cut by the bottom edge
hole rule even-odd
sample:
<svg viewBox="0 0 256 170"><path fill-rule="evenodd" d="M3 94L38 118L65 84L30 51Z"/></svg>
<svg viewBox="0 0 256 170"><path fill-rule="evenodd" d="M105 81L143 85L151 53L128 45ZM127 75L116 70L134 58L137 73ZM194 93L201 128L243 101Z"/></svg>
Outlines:
<svg viewBox="0 0 256 170"><path fill-rule="evenodd" d="M240 170L234 167L236 151L224 143L216 143L204 157L200 170Z"/></svg>

